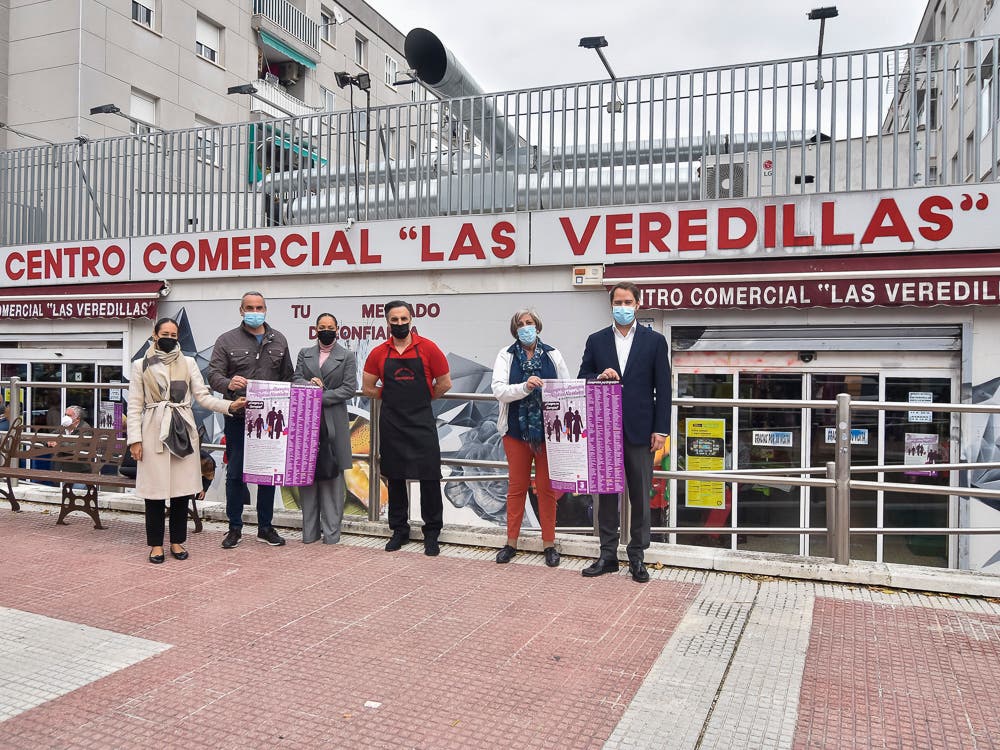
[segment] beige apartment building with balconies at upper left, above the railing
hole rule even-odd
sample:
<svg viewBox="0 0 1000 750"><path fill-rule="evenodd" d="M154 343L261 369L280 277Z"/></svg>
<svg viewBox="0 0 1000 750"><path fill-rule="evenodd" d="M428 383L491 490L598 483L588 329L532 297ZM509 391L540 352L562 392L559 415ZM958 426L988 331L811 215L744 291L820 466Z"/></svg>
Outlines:
<svg viewBox="0 0 1000 750"><path fill-rule="evenodd" d="M0 0L0 148L418 100L402 46L363 0Z"/></svg>

